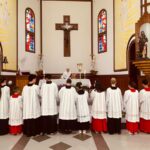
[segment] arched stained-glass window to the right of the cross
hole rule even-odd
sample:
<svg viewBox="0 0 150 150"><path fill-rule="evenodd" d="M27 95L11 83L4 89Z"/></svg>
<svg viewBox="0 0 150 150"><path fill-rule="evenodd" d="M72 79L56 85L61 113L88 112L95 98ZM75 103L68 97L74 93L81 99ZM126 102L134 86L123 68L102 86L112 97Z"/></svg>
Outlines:
<svg viewBox="0 0 150 150"><path fill-rule="evenodd" d="M98 14L98 53L107 51L107 12L102 9Z"/></svg>

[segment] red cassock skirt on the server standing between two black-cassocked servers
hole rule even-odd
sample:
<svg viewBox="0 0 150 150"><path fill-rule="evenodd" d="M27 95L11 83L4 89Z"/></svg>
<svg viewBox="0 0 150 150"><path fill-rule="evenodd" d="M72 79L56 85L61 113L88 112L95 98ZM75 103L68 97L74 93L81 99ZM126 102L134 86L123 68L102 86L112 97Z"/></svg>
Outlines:
<svg viewBox="0 0 150 150"><path fill-rule="evenodd" d="M92 118L92 129L97 132L107 132L107 120Z"/></svg>

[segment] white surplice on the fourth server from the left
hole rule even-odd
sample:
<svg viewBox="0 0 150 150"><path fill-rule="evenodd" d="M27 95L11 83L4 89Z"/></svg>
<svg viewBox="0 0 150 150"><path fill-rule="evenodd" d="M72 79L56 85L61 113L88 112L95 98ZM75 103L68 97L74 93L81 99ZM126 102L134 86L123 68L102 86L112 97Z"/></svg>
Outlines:
<svg viewBox="0 0 150 150"><path fill-rule="evenodd" d="M42 116L56 115L58 87L55 83L43 83L41 87L41 111Z"/></svg>

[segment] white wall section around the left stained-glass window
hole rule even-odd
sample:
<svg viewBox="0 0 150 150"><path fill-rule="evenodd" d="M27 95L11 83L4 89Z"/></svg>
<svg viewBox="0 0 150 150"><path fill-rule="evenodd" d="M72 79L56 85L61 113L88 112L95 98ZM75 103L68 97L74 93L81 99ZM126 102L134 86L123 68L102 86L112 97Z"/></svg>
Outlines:
<svg viewBox="0 0 150 150"><path fill-rule="evenodd" d="M35 13L35 51L25 52L25 9ZM18 67L21 71L34 73L38 69L40 54L40 0L18 0Z"/></svg>

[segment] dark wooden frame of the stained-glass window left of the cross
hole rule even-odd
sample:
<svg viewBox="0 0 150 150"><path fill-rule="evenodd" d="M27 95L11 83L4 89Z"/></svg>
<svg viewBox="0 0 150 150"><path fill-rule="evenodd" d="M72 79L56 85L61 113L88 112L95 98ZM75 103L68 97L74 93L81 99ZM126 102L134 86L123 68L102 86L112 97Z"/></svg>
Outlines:
<svg viewBox="0 0 150 150"><path fill-rule="evenodd" d="M34 16L34 32L33 32L33 33L30 32L30 31L27 31L27 24L26 24L26 11L27 11L27 10L30 10L30 11L33 13L33 16ZM32 34L32 36L33 36L33 38L34 38L34 51L27 51L27 49L26 49L27 33ZM29 52L29 53L36 53L36 51L35 51L35 43L36 43L36 42L35 42L35 13L34 13L34 11L33 11L32 8L27 7L27 8L25 9L25 51L26 51L26 52Z"/></svg>

